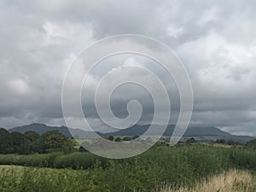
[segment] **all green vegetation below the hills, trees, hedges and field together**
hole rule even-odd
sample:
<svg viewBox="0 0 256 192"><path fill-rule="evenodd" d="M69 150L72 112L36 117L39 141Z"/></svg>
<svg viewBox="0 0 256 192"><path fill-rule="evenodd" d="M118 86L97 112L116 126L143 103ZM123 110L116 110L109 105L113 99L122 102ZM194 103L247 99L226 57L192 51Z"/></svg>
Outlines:
<svg viewBox="0 0 256 192"><path fill-rule="evenodd" d="M134 138L108 137L115 142ZM151 141L148 137L145 142ZM219 174L231 179L230 173L221 175L223 172L256 171L255 141L246 146L223 141L218 144L229 148L196 143L190 138L175 147L166 147L162 141L137 157L108 160L84 148L74 148L73 140L58 131L39 136L33 131L21 134L0 129L0 165L5 165L0 166L0 191L129 192L156 191L168 186L163 191L193 192L205 186L210 189ZM239 179L232 185L243 186Z"/></svg>

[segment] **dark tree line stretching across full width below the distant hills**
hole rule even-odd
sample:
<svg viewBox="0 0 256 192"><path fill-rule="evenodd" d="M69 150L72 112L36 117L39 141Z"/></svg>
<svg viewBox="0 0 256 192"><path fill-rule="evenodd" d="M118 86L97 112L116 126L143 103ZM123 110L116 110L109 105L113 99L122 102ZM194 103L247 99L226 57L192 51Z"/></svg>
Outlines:
<svg viewBox="0 0 256 192"><path fill-rule="evenodd" d="M109 136L106 139L113 142L131 141L135 137L116 137ZM143 141L143 140L142 140ZM148 137L144 142L151 143L152 139ZM181 142L180 142L181 143ZM196 143L195 138L189 138L185 144ZM228 145L241 145L241 143L233 141L225 141L217 139L214 143L222 143ZM46 154L50 152L69 153L73 151L87 152L86 149L74 148L76 143L59 131L47 131L41 136L35 131L26 131L24 134L20 132L9 132L3 128L0 129L0 154ZM155 146L166 145L166 142L158 142ZM246 147L256 148L256 139L249 141Z"/></svg>

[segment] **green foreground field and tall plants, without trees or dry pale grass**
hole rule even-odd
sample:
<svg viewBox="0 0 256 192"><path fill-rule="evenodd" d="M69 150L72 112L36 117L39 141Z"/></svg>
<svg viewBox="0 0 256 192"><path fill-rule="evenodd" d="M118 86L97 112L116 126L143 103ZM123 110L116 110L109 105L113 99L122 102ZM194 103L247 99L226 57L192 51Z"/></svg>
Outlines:
<svg viewBox="0 0 256 192"><path fill-rule="evenodd" d="M172 191L202 189L217 176L230 178L221 174L234 169L255 171L256 152L195 144L151 148L126 160L90 153L6 154L0 155L0 164L22 165L0 167L0 191Z"/></svg>

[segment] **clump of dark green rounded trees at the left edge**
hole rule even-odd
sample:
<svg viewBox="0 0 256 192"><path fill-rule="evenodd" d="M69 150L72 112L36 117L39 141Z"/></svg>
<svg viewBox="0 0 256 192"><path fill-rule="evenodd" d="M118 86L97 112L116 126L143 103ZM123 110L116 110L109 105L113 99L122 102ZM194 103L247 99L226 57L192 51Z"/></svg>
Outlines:
<svg viewBox="0 0 256 192"><path fill-rule="evenodd" d="M9 132L0 129L0 154L45 154L55 151L68 153L74 143L59 131L47 131L41 136L35 131Z"/></svg>

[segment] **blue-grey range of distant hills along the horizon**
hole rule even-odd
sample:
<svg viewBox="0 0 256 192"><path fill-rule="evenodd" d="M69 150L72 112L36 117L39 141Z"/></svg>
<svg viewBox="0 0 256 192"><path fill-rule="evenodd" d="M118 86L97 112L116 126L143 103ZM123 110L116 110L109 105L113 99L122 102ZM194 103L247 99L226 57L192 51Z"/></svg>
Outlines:
<svg viewBox="0 0 256 192"><path fill-rule="evenodd" d="M133 136L141 136L145 131L148 130L149 125L133 125L130 128L114 131L114 132L108 132L108 133L101 133L96 132L98 135L102 137L108 137L108 136L114 136L114 137L133 137ZM174 131L175 125L167 125L166 131L164 132L163 137L171 137L172 133ZM25 133L26 131L36 131L38 134L43 134L46 131L51 130L57 130L60 131L63 135L67 137L75 137L78 136L80 138L85 137L92 137L93 134L90 131L83 131L79 129L72 129L67 128L66 126L48 126L44 124L31 124L31 125L24 125L24 126L18 126L12 129L9 129L9 131L18 131L21 133ZM154 134L156 131L152 133ZM247 141L253 140L255 137L249 137L249 136L235 136L228 132L221 131L217 127L196 127L196 126L190 126L188 130L185 132L183 137L195 137L196 140L200 142L210 142L214 141L216 139L224 139L224 140L231 140L236 141L240 143L247 143Z"/></svg>

